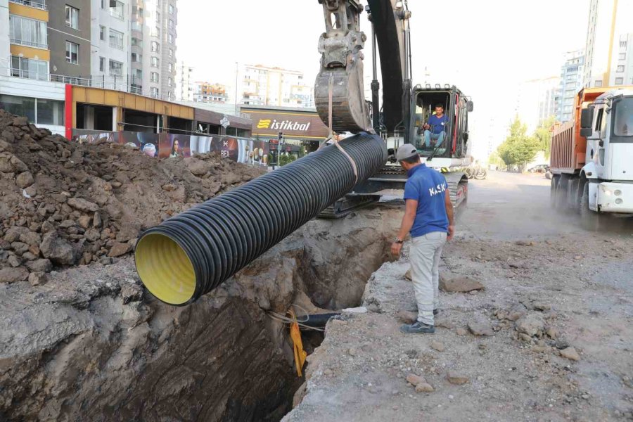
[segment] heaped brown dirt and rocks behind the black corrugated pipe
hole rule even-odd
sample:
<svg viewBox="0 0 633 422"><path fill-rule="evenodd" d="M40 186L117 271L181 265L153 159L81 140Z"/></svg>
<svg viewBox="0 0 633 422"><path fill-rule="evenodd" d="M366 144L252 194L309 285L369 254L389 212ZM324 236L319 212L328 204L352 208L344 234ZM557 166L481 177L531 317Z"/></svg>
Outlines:
<svg viewBox="0 0 633 422"><path fill-rule="evenodd" d="M156 160L115 143L82 145L0 110L0 283L110 264L141 230L263 171L216 154Z"/></svg>

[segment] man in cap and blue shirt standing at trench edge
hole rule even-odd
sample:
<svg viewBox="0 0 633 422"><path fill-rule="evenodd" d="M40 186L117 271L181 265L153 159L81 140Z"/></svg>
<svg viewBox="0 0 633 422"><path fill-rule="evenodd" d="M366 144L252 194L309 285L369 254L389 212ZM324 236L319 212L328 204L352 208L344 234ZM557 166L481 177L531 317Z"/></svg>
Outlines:
<svg viewBox="0 0 633 422"><path fill-rule="evenodd" d="M432 334L440 306L438 283L442 248L455 232L453 204L445 177L421 162L415 146L405 143L398 148L396 158L407 170L409 179L404 185L406 207L402 226L391 252L399 256L404 238L411 234L411 279L418 304L418 320L403 325L400 331Z"/></svg>

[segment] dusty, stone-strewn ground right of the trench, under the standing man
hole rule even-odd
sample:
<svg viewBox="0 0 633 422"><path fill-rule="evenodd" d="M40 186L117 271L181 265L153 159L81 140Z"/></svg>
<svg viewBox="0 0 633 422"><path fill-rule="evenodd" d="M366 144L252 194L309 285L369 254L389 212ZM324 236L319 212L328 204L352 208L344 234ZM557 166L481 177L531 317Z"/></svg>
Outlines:
<svg viewBox="0 0 633 422"><path fill-rule="evenodd" d="M588 233L548 214L545 181L491 179L445 249L437 332L399 332L409 259L384 264L283 421L633 420L633 226Z"/></svg>

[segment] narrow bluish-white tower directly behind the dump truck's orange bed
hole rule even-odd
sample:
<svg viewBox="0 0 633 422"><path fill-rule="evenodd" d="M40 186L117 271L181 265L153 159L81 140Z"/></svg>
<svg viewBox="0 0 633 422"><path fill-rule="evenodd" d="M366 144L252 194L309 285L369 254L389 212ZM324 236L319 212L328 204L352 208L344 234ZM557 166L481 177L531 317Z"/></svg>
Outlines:
<svg viewBox="0 0 633 422"><path fill-rule="evenodd" d="M561 68L561 86L558 89L558 122L572 120L576 94L582 89L584 77L584 51L570 51Z"/></svg>

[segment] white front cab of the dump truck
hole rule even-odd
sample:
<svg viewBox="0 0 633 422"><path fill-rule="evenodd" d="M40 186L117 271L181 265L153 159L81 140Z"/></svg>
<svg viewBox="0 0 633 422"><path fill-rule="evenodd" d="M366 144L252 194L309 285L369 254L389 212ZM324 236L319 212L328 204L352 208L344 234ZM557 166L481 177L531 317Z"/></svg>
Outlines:
<svg viewBox="0 0 633 422"><path fill-rule="evenodd" d="M583 202L592 212L632 217L633 89L614 89L596 98L582 110L580 127L587 138L581 178L589 182Z"/></svg>

